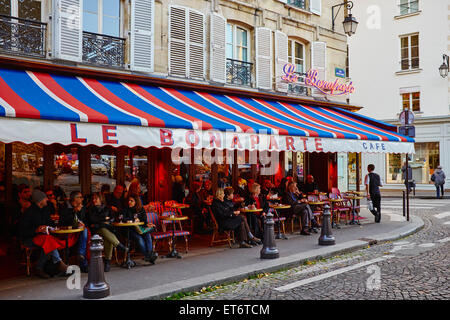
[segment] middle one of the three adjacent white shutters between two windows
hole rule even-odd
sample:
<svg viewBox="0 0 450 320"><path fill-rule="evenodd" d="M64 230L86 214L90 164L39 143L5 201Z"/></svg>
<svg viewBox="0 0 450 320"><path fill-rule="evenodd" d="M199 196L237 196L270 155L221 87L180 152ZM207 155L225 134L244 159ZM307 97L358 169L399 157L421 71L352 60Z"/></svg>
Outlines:
<svg viewBox="0 0 450 320"><path fill-rule="evenodd" d="M205 79L205 16L189 9L188 77Z"/></svg>

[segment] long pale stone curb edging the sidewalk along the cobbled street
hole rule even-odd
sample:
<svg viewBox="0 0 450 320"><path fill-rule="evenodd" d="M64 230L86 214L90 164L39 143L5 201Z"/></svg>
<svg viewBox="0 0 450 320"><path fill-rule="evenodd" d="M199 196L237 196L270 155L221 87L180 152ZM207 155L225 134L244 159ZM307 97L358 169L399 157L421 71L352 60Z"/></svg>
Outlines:
<svg viewBox="0 0 450 320"><path fill-rule="evenodd" d="M261 260L258 263L235 268L233 270L221 271L213 274L204 275L168 283L154 288L138 290L135 292L124 293L116 296L109 296L102 300L154 300L163 299L180 292L198 291L203 287L213 285L226 285L237 281L242 281L250 276L265 272L275 272L282 269L297 267L308 260L320 260L332 256L353 252L365 248L374 240L377 242L392 241L404 238L423 228L424 222L420 217L410 216L410 224L399 230L369 236L364 240L347 241L333 246L319 247L315 250L309 250L299 254L293 254L287 257L280 257L274 260Z"/></svg>

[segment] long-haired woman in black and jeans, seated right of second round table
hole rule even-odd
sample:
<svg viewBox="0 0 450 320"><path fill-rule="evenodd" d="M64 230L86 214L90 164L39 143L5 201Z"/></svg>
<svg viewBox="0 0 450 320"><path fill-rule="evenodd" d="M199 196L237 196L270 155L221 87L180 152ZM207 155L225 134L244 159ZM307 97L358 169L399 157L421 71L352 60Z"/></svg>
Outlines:
<svg viewBox="0 0 450 320"><path fill-rule="evenodd" d="M148 222L147 214L138 195L131 194L127 199L128 206L123 211L123 219L125 221L139 219L139 221L144 222L143 226L137 226L130 230L130 237L136 242L139 251L144 255L144 260L155 264L158 254L153 251L152 237L150 235L155 225Z"/></svg>

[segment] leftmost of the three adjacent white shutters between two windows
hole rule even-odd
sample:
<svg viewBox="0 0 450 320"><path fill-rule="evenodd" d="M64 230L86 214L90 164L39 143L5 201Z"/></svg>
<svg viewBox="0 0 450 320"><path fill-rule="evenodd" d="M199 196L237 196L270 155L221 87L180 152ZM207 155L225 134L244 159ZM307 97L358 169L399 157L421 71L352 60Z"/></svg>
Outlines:
<svg viewBox="0 0 450 320"><path fill-rule="evenodd" d="M171 6L169 10L169 74L186 77L188 57L186 50L187 8Z"/></svg>

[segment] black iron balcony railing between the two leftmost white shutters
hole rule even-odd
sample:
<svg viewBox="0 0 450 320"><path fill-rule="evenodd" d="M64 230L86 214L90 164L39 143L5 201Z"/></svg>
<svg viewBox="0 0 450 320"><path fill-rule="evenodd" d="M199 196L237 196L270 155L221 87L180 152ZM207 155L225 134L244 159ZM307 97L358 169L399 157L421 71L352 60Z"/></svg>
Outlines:
<svg viewBox="0 0 450 320"><path fill-rule="evenodd" d="M83 31L83 62L98 66L123 68L125 39Z"/></svg>

